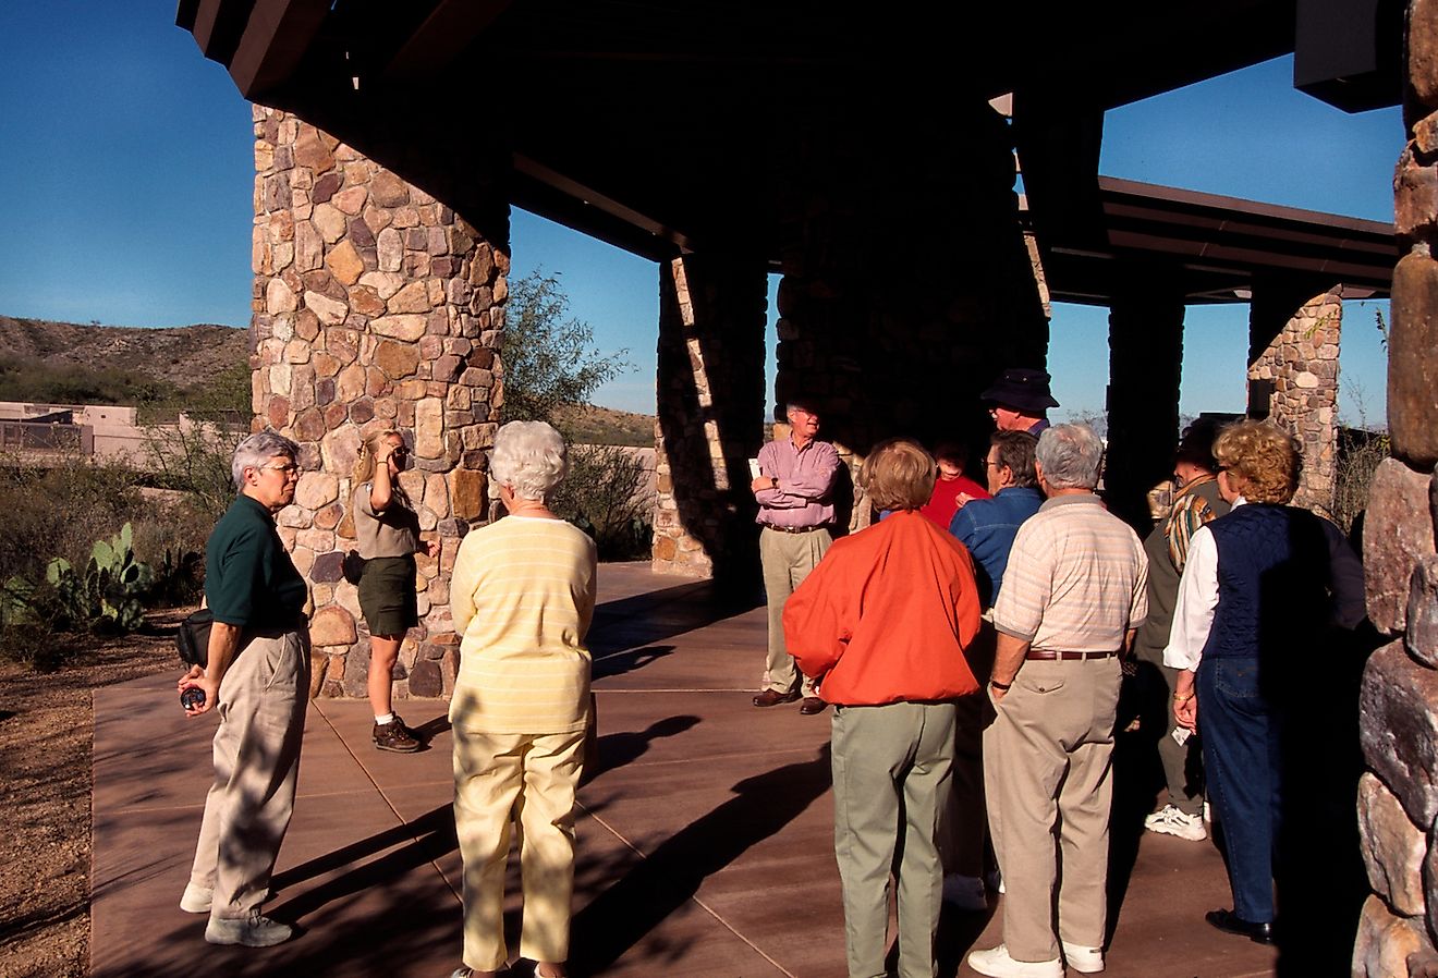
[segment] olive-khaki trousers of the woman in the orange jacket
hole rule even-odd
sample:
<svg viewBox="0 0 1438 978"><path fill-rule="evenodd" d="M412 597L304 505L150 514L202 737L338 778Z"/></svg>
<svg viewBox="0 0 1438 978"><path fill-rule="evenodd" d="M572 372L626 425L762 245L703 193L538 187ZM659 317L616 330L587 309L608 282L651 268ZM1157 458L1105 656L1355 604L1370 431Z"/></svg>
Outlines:
<svg viewBox="0 0 1438 978"><path fill-rule="evenodd" d="M899 978L933 978L953 703L835 706L834 856L844 890L848 978L884 978L889 874L899 879ZM903 834L903 856L894 850Z"/></svg>

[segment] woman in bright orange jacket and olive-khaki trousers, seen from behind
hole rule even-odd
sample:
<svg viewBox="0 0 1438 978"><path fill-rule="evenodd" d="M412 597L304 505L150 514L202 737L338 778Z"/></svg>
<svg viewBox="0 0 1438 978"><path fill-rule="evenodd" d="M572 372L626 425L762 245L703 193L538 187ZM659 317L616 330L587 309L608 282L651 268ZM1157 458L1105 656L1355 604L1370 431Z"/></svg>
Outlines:
<svg viewBox="0 0 1438 978"><path fill-rule="evenodd" d="M864 978L887 974L899 833L899 978L935 974L955 700L978 692L963 656L979 630L974 567L919 513L936 467L913 442L876 446L858 483L889 518L835 541L784 608L789 654L834 705L834 854L848 974Z"/></svg>

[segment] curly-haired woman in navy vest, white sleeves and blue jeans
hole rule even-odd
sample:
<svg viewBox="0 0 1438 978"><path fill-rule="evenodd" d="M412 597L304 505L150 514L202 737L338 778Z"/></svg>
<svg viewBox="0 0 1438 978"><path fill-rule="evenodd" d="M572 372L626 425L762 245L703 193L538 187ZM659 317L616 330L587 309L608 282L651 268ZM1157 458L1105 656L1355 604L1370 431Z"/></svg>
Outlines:
<svg viewBox="0 0 1438 978"><path fill-rule="evenodd" d="M1363 617L1363 570L1337 526L1286 505L1301 469L1290 434L1240 421L1218 436L1214 456L1232 511L1194 534L1163 663L1182 670L1179 725L1196 729L1202 706L1208 795L1228 840L1234 909L1206 919L1271 943L1274 870L1281 883L1287 849L1284 729L1332 626Z"/></svg>

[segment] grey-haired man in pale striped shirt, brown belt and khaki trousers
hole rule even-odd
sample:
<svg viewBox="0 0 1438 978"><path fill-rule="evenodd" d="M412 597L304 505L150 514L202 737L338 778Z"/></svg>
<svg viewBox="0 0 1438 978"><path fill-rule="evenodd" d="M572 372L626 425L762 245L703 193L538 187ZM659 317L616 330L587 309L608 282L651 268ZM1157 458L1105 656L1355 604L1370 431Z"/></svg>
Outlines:
<svg viewBox="0 0 1438 978"><path fill-rule="evenodd" d="M1064 961L1103 971L1119 662L1148 614L1148 559L1093 493L1102 457L1081 424L1038 437L1047 502L1020 526L994 605L998 716L984 734L984 784L1007 893L1004 943L969 955L994 978L1063 978Z"/></svg>

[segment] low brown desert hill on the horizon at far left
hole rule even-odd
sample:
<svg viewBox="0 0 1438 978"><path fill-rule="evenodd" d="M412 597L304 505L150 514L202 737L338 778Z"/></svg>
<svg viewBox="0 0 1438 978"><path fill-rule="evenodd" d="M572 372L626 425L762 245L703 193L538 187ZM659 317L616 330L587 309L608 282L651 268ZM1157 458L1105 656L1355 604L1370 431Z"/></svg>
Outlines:
<svg viewBox="0 0 1438 978"><path fill-rule="evenodd" d="M190 387L249 358L249 331L196 325L168 329L79 325L0 315L0 357L52 370L122 373Z"/></svg>

